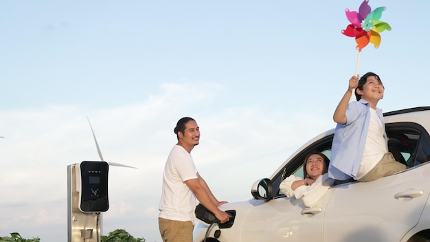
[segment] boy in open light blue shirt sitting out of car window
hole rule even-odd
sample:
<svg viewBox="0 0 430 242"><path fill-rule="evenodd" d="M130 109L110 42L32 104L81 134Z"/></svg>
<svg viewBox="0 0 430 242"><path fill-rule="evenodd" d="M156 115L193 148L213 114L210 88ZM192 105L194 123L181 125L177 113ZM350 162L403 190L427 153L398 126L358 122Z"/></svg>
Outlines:
<svg viewBox="0 0 430 242"><path fill-rule="evenodd" d="M355 89L357 102L349 102ZM373 181L392 175L406 166L388 152L382 110L376 107L384 96L378 75L367 72L359 80L350 78L348 91L337 105L337 122L328 175L333 179Z"/></svg>

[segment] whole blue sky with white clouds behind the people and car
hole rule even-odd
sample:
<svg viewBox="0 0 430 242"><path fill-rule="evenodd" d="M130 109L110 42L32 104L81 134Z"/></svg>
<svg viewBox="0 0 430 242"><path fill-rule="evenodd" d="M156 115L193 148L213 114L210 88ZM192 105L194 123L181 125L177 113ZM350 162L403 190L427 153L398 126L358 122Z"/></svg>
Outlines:
<svg viewBox="0 0 430 242"><path fill-rule="evenodd" d="M67 238L67 166L111 167L104 234L161 241L161 174L173 128L196 119L192 155L220 200L251 198L332 112L358 51L341 34L361 1L1 1L0 236ZM385 85L378 107L429 105L427 1L386 6L381 46L359 74Z"/></svg>

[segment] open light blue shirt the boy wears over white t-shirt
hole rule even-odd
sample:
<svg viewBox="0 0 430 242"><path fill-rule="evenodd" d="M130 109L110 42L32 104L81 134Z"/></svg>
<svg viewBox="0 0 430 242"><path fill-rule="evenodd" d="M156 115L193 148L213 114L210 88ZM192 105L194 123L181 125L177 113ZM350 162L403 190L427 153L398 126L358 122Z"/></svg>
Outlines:
<svg viewBox="0 0 430 242"><path fill-rule="evenodd" d="M382 110L376 109L376 113L384 124ZM346 124L336 126L328 166L328 175L338 180L357 176L369 129L370 103L363 99L358 102L350 102L346 109L346 118ZM383 125L383 133L385 144L387 144L385 125Z"/></svg>

